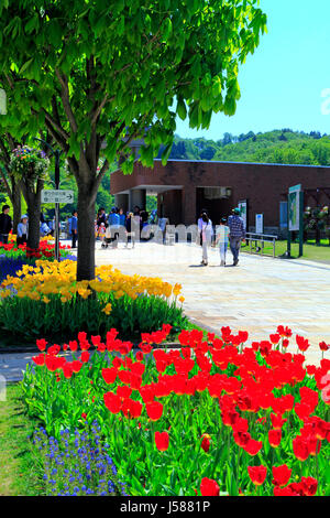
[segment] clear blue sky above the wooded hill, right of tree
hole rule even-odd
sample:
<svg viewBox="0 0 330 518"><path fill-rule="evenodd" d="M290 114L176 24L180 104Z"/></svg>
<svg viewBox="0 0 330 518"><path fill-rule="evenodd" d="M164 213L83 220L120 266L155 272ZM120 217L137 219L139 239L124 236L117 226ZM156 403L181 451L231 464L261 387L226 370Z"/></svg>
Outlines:
<svg viewBox="0 0 330 518"><path fill-rule="evenodd" d="M215 114L200 131L177 118L180 137L219 140L224 132L282 128L330 133L330 0L261 0L260 7L268 32L241 66L235 115Z"/></svg>

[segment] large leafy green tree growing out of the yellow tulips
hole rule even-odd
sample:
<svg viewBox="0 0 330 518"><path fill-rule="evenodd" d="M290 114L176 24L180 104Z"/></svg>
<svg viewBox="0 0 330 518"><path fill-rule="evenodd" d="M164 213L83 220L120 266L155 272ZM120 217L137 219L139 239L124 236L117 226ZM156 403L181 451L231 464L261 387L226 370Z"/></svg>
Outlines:
<svg viewBox="0 0 330 518"><path fill-rule="evenodd" d="M176 114L208 128L233 115L238 72L265 30L257 0L2 0L0 123L20 138L45 128L78 185L78 278L94 276L91 211L109 164L144 137L141 161L166 162ZM99 158L106 160L98 171ZM87 253L87 248L89 253ZM80 253L81 252L81 253ZM82 259L84 256L84 259Z"/></svg>

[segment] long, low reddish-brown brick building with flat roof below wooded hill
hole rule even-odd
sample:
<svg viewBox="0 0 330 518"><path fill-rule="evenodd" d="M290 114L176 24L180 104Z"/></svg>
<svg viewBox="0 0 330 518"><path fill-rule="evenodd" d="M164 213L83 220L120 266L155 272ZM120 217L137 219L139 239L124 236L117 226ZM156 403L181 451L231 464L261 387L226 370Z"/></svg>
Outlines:
<svg viewBox="0 0 330 518"><path fill-rule="evenodd" d="M306 190L305 205L315 206L312 190L319 190L320 205L330 204L330 168L324 166L190 160L168 160L163 166L156 159L153 169L136 161L131 175L111 174L111 194L124 211L144 208L146 194L156 194L158 215L170 224L194 224L201 208L218 224L246 199L249 229L255 214L263 213L268 231L286 227L286 193L296 184Z"/></svg>

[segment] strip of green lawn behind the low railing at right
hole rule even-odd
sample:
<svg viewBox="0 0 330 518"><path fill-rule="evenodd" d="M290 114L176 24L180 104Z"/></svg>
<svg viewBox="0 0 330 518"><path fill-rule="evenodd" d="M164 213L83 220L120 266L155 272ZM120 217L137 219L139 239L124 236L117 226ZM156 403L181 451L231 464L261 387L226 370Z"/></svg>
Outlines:
<svg viewBox="0 0 330 518"><path fill-rule="evenodd" d="M261 246L261 242L257 242L258 247ZM242 245L242 251L246 251L248 253L250 252L250 246ZM284 256L285 251L287 249L287 241L276 241L275 246L275 256L280 257ZM254 241L252 246L252 251L255 252L255 247L254 247ZM330 246L329 246L329 240L323 239L321 240L321 244L319 246L316 246L309 241L304 244L304 255L302 259L307 259L310 261L319 261L319 262L328 262L330 263ZM298 242L292 242L292 257L293 258L298 258L299 253L299 244ZM261 251L258 251L258 255L261 256ZM263 249L263 255L264 256L273 256L273 244L264 244L264 249Z"/></svg>

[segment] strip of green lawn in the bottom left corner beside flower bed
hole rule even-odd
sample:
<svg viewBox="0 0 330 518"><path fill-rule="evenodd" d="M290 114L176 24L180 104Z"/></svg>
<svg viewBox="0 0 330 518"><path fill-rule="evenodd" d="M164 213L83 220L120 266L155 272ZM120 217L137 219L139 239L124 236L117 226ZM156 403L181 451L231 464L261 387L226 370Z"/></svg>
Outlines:
<svg viewBox="0 0 330 518"><path fill-rule="evenodd" d="M0 496L44 494L29 440L35 428L25 414L20 385L9 385L7 400L0 401Z"/></svg>

